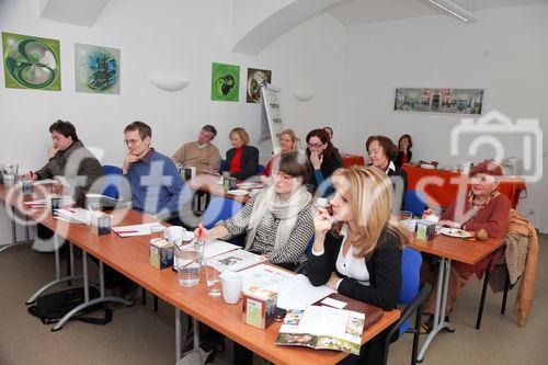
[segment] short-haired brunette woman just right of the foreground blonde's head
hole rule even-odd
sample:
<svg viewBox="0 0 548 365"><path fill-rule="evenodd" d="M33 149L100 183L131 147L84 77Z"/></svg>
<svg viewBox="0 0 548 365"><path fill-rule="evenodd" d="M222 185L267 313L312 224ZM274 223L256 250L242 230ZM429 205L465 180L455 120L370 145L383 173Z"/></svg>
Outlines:
<svg viewBox="0 0 548 365"><path fill-rule="evenodd" d="M392 181L395 199L392 210L403 209L406 192L408 190L408 174L393 163L396 145L386 136L370 136L365 142L372 164L386 172Z"/></svg>

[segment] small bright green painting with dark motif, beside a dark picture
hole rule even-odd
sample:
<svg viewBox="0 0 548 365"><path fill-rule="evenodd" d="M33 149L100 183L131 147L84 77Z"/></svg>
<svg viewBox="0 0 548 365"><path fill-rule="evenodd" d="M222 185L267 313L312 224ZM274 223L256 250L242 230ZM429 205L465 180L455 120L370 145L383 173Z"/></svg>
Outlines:
<svg viewBox="0 0 548 365"><path fill-rule="evenodd" d="M238 101L240 95L240 66L212 64L212 100Z"/></svg>

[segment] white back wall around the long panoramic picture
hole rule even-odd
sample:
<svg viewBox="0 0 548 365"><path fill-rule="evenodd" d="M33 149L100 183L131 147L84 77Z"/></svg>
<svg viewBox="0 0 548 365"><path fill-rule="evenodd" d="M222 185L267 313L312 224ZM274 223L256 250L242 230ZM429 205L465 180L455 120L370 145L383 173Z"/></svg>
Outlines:
<svg viewBox="0 0 548 365"><path fill-rule="evenodd" d="M449 156L449 132L461 116L393 112L397 87L483 88L484 112L498 110L512 119L536 117L548 149L548 7L475 12L465 24L437 15L349 27L344 82L335 139L343 150L365 151L365 139L386 134L397 141L413 137L413 159L458 161ZM356 138L356 136L359 136ZM504 139L507 156L520 156L518 135ZM492 150L480 150L491 158ZM545 175L548 174L546 159ZM528 185L520 208L548 231L547 184Z"/></svg>

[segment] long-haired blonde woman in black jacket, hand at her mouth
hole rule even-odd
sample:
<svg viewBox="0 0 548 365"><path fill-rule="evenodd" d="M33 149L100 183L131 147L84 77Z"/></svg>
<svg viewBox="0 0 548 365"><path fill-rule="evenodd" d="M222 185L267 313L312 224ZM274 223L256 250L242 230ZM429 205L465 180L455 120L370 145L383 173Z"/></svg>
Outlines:
<svg viewBox="0 0 548 365"><path fill-rule="evenodd" d="M373 167L351 167L333 174L333 216L318 208L315 242L307 275L347 297L395 309L401 287L401 247L408 241L391 218L390 179ZM383 364L384 337L362 346L361 355L342 363Z"/></svg>

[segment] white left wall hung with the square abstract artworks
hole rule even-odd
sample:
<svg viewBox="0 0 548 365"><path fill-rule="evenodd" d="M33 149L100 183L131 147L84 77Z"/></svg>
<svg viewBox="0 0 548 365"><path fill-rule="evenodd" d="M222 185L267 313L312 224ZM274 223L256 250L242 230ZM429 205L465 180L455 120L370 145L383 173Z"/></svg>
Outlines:
<svg viewBox="0 0 548 365"><path fill-rule="evenodd" d="M258 57L249 57L229 52L230 12L230 1L224 0L116 0L109 1L92 27L83 27L39 19L38 0L0 1L1 32L60 41L62 82L60 92L7 89L1 82L0 163L19 162L23 170L42 167L50 145L47 128L57 118L71 121L87 146L103 149L104 163L122 162L122 132L136 119L152 127L153 146L169 156L195 139L203 124L214 124L219 130L215 142L224 153L231 128L243 126L252 138L259 135L259 104L246 103L248 67L273 71L273 83L283 90L288 127L305 133L304 123L332 123L343 26L331 16L319 16L283 35ZM75 92L75 43L121 49L119 95ZM213 61L240 65L238 103L210 101ZM323 88L318 75L331 85ZM148 81L150 76L184 78L191 83L182 91L165 92ZM300 103L288 96L295 84L317 88L315 101ZM10 240L10 229L4 212L0 215L1 243Z"/></svg>

